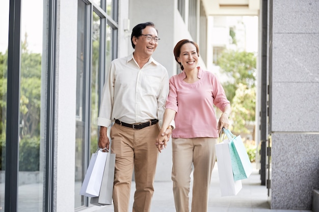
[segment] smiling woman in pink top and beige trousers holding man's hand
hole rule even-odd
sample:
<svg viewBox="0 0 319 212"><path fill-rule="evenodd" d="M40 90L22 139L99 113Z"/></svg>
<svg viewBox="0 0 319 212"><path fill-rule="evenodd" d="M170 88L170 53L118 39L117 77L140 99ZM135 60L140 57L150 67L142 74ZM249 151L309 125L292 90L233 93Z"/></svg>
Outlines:
<svg viewBox="0 0 319 212"><path fill-rule="evenodd" d="M197 67L198 52L198 45L186 39L174 48L175 60L182 72L170 78L163 126L156 139L161 152L168 141L165 130L174 119L172 180L177 212L189 211L192 165L192 211L207 211L210 177L216 161L215 144L222 128L228 128L231 112L217 77ZM223 111L218 122L214 105Z"/></svg>

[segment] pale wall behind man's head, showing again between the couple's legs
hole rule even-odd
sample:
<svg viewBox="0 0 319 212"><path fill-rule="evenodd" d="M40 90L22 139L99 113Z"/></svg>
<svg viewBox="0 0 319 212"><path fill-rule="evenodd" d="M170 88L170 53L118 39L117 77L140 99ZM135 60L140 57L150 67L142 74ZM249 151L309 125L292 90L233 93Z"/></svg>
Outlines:
<svg viewBox="0 0 319 212"><path fill-rule="evenodd" d="M129 19L131 28L135 25L147 21L155 24L158 30L158 46L153 54L153 58L161 63L168 71L169 76L176 73L174 68L175 59L173 56L174 48L174 11L175 2L172 0L154 1L154 0L131 0L129 1ZM131 31L130 31L131 33ZM130 52L133 51L129 44ZM174 64L174 65L173 65ZM155 180L170 181L172 171L172 149L171 142L167 149L159 154Z"/></svg>

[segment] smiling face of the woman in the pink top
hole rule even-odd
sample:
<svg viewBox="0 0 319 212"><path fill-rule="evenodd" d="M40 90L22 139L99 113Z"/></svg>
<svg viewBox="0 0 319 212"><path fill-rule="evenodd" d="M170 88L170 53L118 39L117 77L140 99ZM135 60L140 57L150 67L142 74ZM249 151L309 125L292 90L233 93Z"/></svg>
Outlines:
<svg viewBox="0 0 319 212"><path fill-rule="evenodd" d="M177 60L184 67L184 70L196 69L198 63L198 53L196 51L196 46L192 43L185 43L182 45Z"/></svg>

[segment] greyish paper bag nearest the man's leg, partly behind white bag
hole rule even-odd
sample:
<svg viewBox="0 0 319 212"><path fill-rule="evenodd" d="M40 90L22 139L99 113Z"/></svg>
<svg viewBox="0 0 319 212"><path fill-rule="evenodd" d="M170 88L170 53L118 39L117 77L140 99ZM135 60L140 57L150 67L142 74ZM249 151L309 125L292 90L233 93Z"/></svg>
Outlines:
<svg viewBox="0 0 319 212"><path fill-rule="evenodd" d="M114 185L114 169L115 169L115 154L108 153L107 162L105 163L101 190L98 197L91 198L91 204L94 205L111 205L113 197Z"/></svg>

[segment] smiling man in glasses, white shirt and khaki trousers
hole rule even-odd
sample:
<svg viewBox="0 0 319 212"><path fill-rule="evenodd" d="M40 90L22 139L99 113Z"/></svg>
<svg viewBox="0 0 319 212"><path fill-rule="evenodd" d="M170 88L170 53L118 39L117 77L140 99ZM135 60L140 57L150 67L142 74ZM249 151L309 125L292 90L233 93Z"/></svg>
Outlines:
<svg viewBox="0 0 319 212"><path fill-rule="evenodd" d="M163 123L169 92L167 70L152 58L158 41L152 22L136 25L131 34L134 52L112 61L104 84L97 120L101 126L98 145L109 149L110 127L111 152L116 154L115 212L128 211L133 170L136 192L132 211L150 211L158 157L155 139ZM171 132L169 126L167 137Z"/></svg>

